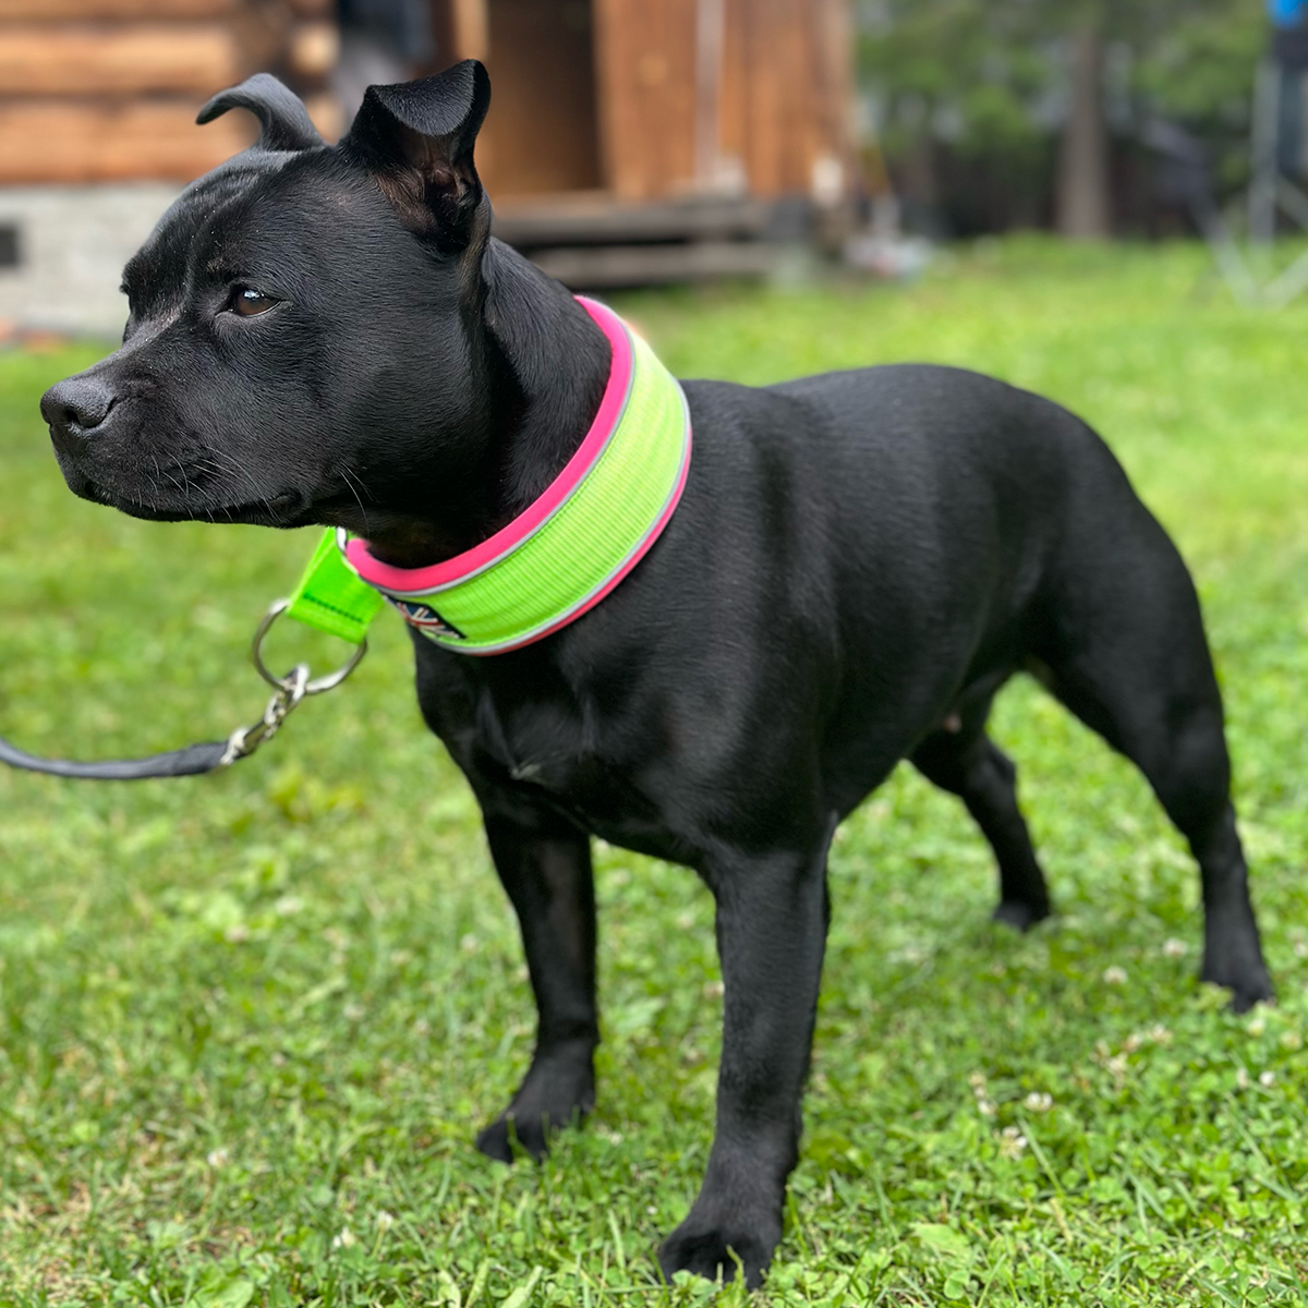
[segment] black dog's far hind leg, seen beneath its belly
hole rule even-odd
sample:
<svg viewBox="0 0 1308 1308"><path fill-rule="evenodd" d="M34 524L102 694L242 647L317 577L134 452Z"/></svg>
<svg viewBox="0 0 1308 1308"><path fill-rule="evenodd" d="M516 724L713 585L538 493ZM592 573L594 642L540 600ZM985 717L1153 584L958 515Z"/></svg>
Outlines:
<svg viewBox="0 0 1308 1308"><path fill-rule="evenodd" d="M957 795L990 841L999 865L995 921L1022 931L1049 917L1049 889L1018 808L1018 769L985 734L989 698L933 731L909 756L927 781ZM950 730L956 726L956 730Z"/></svg>

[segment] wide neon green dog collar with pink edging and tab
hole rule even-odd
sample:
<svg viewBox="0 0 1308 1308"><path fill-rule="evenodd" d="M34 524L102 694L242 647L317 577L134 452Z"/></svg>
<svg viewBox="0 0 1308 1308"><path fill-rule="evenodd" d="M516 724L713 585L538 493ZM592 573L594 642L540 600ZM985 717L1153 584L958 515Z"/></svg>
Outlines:
<svg viewBox="0 0 1308 1308"><path fill-rule="evenodd" d="M578 296L612 351L599 412L538 500L488 540L429 568L394 568L328 530L288 613L362 641L383 603L459 654L502 654L594 608L676 509L691 460L681 387L611 309Z"/></svg>

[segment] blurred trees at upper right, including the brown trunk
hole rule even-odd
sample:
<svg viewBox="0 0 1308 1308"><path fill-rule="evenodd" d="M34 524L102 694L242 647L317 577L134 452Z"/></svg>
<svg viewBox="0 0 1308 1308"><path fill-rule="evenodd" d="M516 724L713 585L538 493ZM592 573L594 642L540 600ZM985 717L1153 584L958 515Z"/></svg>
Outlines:
<svg viewBox="0 0 1308 1308"><path fill-rule="evenodd" d="M1209 145L1224 187L1244 182L1265 0L863 0L858 18L882 148L927 207L967 213L947 160L961 190L997 191L990 225L1107 235L1110 143L1156 118Z"/></svg>

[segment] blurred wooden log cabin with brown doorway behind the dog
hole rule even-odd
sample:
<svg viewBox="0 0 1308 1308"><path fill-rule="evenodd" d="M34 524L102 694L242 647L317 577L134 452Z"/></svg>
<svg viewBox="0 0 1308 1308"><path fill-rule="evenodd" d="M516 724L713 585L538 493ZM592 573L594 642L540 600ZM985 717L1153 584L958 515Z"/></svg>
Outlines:
<svg viewBox="0 0 1308 1308"><path fill-rule="evenodd" d="M778 204L853 192L848 0L428 4L434 55L408 72L485 61L497 232L565 280L761 271ZM0 199L184 183L252 137L195 112L259 69L331 139L337 50L335 0L0 0Z"/></svg>

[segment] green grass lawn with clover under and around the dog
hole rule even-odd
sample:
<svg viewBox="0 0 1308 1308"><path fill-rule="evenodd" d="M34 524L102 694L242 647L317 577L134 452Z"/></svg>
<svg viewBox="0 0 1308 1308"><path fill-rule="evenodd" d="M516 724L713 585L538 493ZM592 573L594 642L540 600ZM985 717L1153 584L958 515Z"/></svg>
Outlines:
<svg viewBox="0 0 1308 1308"><path fill-rule="evenodd" d="M684 374L938 360L1105 434L1199 583L1281 994L1237 1019L1196 984L1180 841L1130 766L1014 684L995 735L1061 913L989 925L980 835L906 768L841 831L760 1304L1308 1299L1308 303L1240 310L1203 269L1016 242L906 289L620 305ZM84 756L213 739L262 706L246 641L310 538L75 501L35 400L92 357L0 358L0 731ZM348 689L228 776L0 776L0 1303L713 1299L651 1260L712 1131L709 896L600 849L599 1107L543 1167L481 1159L532 1007L409 675L383 623Z"/></svg>

